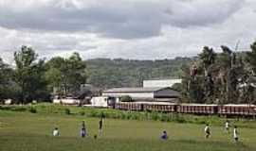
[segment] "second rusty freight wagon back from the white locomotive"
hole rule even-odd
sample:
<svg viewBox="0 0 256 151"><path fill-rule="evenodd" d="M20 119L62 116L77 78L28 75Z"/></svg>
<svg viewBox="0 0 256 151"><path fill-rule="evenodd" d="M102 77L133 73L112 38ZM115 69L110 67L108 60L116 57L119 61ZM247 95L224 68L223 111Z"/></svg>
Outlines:
<svg viewBox="0 0 256 151"><path fill-rule="evenodd" d="M144 110L175 112L177 104L168 102L143 103Z"/></svg>

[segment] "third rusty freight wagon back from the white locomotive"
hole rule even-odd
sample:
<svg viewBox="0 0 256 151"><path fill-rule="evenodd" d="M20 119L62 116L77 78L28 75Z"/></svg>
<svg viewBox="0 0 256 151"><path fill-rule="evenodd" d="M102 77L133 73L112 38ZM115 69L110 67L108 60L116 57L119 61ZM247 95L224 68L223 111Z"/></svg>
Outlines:
<svg viewBox="0 0 256 151"><path fill-rule="evenodd" d="M181 104L177 106L177 112L193 114L216 114L218 112L218 106L202 104Z"/></svg>

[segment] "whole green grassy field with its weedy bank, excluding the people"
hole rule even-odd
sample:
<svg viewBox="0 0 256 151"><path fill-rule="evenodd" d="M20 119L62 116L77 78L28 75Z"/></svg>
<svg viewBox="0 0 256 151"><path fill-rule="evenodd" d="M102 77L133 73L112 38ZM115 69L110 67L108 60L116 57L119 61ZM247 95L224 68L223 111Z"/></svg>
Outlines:
<svg viewBox="0 0 256 151"><path fill-rule="evenodd" d="M103 133L99 135L99 117ZM82 121L88 131L80 137ZM45 151L254 151L256 122L229 119L238 126L240 142L234 143L232 128L224 130L226 119L217 116L194 116L158 112L132 112L115 109L89 109L50 104L5 106L0 109L0 150ZM204 126L211 135L205 139ZM59 137L52 137L55 126ZM163 130L167 141L159 139ZM94 136L98 135L97 139Z"/></svg>

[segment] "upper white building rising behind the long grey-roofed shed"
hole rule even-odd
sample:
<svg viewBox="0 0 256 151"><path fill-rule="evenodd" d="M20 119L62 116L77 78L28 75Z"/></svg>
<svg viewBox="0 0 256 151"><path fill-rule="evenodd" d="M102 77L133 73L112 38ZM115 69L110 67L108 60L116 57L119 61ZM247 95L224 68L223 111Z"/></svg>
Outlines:
<svg viewBox="0 0 256 151"><path fill-rule="evenodd" d="M181 79L152 79L152 80L143 80L143 87L172 87L175 83L181 83Z"/></svg>

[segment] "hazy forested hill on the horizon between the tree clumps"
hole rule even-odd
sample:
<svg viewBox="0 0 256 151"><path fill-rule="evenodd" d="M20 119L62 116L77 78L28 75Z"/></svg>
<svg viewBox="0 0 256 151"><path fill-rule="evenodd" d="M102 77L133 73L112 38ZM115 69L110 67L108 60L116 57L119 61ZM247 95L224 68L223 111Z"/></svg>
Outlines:
<svg viewBox="0 0 256 151"><path fill-rule="evenodd" d="M137 87L143 79L181 76L181 66L190 58L134 60L89 59L87 82L100 88Z"/></svg>

